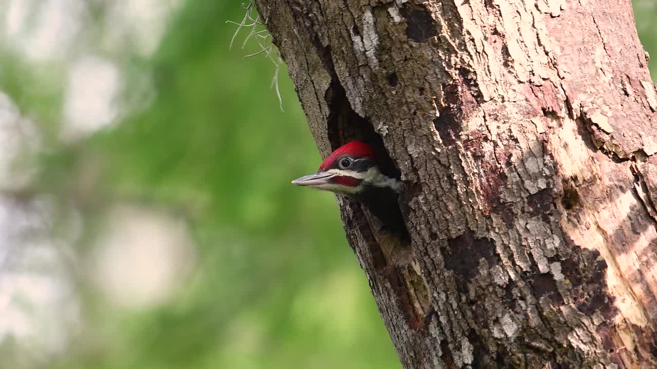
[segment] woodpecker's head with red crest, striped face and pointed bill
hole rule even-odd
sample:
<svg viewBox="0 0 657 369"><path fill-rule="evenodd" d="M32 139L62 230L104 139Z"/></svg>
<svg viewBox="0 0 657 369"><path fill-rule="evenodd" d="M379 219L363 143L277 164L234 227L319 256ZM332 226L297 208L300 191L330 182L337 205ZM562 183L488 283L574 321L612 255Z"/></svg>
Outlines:
<svg viewBox="0 0 657 369"><path fill-rule="evenodd" d="M399 181L382 174L372 148L361 141L351 141L332 152L317 173L292 181L292 185L358 196L371 188L388 188L399 192Z"/></svg>

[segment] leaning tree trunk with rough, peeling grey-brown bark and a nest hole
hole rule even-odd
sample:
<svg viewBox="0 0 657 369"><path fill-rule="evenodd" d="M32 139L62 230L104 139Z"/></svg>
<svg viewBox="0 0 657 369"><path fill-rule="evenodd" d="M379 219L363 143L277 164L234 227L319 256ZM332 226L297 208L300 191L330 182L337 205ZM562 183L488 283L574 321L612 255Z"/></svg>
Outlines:
<svg viewBox="0 0 657 369"><path fill-rule="evenodd" d="M404 368L657 368L657 94L630 0L258 0L319 150L402 173L413 253L339 198Z"/></svg>

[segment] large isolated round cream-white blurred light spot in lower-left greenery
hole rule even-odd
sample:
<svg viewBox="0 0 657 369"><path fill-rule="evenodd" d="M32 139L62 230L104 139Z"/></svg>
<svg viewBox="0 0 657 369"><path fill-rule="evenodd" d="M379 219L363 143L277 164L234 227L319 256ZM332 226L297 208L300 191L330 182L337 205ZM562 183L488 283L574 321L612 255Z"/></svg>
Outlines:
<svg viewBox="0 0 657 369"><path fill-rule="evenodd" d="M148 309L166 302L194 265L187 224L143 207L116 206L91 255L90 275L119 307Z"/></svg>

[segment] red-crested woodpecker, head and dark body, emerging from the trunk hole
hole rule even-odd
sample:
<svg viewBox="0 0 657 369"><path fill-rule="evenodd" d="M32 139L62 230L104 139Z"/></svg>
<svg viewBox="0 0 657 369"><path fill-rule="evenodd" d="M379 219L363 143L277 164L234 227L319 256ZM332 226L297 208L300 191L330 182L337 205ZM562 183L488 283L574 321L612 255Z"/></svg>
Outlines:
<svg viewBox="0 0 657 369"><path fill-rule="evenodd" d="M408 230L397 202L400 184L399 177L382 173L374 150L361 141L340 146L319 165L317 173L292 181L292 185L354 198L379 219L384 230L407 239Z"/></svg>

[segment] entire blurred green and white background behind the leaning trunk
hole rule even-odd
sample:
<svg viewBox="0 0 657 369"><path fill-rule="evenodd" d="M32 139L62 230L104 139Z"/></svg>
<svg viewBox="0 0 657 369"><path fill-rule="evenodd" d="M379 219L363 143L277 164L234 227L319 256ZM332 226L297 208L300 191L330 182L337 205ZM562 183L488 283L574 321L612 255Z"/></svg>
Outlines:
<svg viewBox="0 0 657 369"><path fill-rule="evenodd" d="M266 40L229 49L243 17L0 1L0 369L400 368L334 197L289 184L319 154L284 65L281 112L244 58Z"/></svg>

